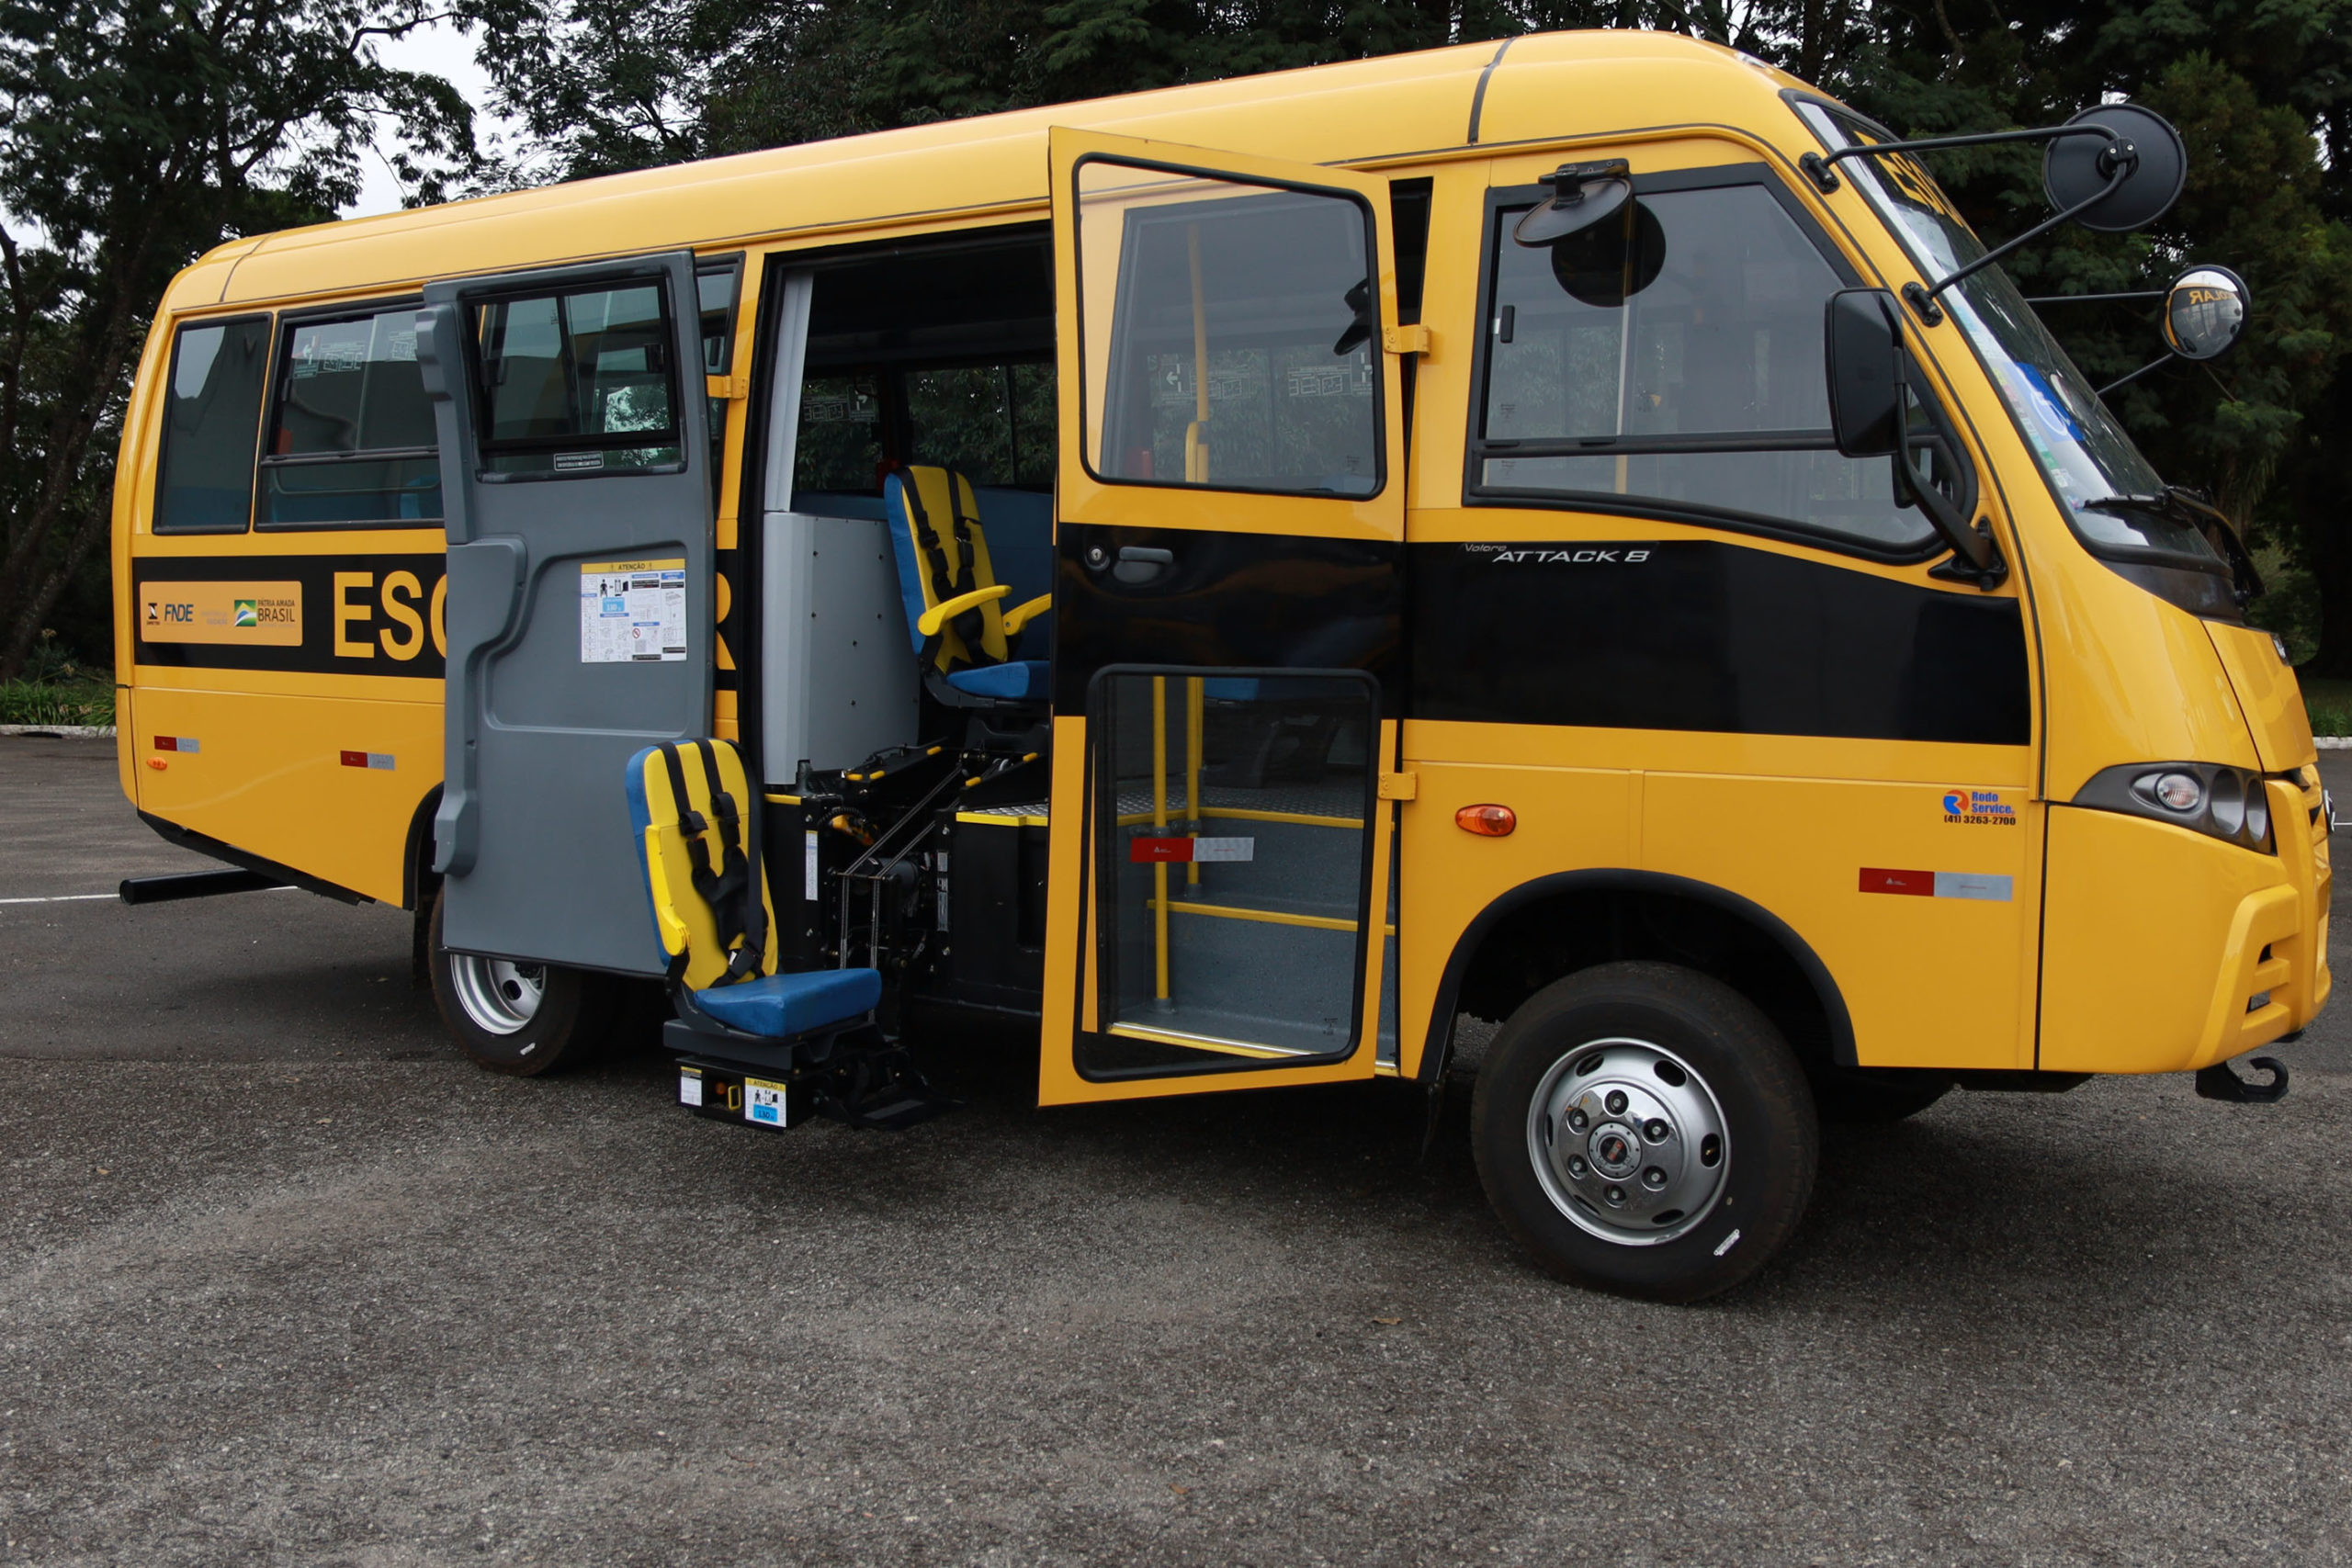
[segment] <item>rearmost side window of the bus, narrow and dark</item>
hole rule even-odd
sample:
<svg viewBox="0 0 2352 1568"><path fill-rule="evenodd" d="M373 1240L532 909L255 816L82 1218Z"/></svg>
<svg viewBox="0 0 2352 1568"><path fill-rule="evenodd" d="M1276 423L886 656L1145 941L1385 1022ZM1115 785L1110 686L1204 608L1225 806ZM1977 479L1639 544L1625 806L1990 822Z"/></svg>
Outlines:
<svg viewBox="0 0 2352 1568"><path fill-rule="evenodd" d="M155 534L245 531L268 357L266 315L179 329L155 465Z"/></svg>

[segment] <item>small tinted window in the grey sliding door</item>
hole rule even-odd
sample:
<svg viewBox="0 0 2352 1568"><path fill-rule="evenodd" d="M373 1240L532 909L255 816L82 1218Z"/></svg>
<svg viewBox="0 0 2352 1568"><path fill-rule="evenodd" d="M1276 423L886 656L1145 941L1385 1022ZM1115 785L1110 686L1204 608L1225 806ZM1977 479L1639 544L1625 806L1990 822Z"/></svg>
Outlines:
<svg viewBox="0 0 2352 1568"><path fill-rule="evenodd" d="M677 367L659 284L477 306L492 473L680 463Z"/></svg>

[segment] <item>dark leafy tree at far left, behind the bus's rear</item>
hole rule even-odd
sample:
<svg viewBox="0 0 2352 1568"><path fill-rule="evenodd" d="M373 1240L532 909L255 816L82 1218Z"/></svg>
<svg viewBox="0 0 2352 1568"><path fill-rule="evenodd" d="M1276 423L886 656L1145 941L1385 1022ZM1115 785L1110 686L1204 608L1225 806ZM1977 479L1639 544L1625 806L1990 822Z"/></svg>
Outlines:
<svg viewBox="0 0 2352 1568"><path fill-rule="evenodd" d="M108 534L129 371L181 266L350 202L379 120L419 200L473 110L376 40L423 0L0 2L0 677Z"/></svg>

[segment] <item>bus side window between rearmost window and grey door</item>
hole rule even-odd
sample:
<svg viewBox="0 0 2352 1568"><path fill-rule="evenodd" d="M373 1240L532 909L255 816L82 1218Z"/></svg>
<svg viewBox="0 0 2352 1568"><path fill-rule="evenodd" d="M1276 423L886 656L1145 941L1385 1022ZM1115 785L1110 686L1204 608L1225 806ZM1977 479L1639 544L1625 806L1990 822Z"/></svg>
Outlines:
<svg viewBox="0 0 2352 1568"><path fill-rule="evenodd" d="M263 529L419 527L442 520L416 308L287 322L261 454Z"/></svg>

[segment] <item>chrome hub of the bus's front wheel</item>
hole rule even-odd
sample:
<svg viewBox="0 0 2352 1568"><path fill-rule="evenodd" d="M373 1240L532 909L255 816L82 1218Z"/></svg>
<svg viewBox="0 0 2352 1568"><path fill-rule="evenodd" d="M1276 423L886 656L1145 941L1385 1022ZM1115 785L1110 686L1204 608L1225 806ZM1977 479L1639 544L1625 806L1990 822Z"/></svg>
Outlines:
<svg viewBox="0 0 2352 1568"><path fill-rule="evenodd" d="M1621 1246L1698 1225L1731 1168L1715 1091L1642 1039L1595 1039L1552 1063L1526 1107L1526 1154L1559 1213Z"/></svg>

